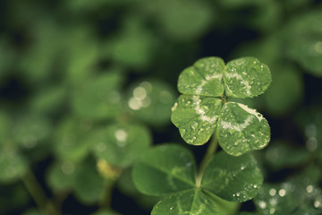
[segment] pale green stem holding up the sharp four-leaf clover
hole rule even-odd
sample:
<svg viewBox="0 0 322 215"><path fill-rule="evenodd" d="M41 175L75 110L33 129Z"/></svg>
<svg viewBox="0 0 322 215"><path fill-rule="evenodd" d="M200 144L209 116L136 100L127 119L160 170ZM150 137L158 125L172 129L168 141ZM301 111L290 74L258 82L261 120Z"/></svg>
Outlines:
<svg viewBox="0 0 322 215"><path fill-rule="evenodd" d="M197 179L196 179L196 186L197 187L199 187L201 185L201 179L204 174L205 168L207 167L209 160L212 158L212 156L216 152L217 147L218 147L218 138L217 138L217 134L215 132L215 135L213 136L213 139L209 143L206 154L203 157L203 159L201 160L201 163L199 166L199 172L198 172Z"/></svg>

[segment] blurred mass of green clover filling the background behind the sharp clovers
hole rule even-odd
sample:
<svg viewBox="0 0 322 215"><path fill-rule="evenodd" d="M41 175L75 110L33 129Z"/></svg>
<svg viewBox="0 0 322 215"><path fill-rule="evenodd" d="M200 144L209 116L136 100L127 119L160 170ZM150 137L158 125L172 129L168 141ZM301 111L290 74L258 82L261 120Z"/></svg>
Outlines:
<svg viewBox="0 0 322 215"><path fill-rule="evenodd" d="M273 75L248 102L272 142L241 214L321 214L320 0L0 0L0 214L149 214L158 199L131 167L184 144L177 77L203 56L254 56Z"/></svg>

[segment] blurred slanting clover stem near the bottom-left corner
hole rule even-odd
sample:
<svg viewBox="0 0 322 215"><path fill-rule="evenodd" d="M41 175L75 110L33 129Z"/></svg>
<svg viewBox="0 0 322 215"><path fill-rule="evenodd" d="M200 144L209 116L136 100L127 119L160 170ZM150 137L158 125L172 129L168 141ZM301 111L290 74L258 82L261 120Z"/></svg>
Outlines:
<svg viewBox="0 0 322 215"><path fill-rule="evenodd" d="M21 176L21 181L26 186L30 195L36 202L38 210L41 211L42 214L60 214L60 212L55 209L54 204L47 200L47 196L43 192L41 186L38 184L36 176L30 170L24 176Z"/></svg>

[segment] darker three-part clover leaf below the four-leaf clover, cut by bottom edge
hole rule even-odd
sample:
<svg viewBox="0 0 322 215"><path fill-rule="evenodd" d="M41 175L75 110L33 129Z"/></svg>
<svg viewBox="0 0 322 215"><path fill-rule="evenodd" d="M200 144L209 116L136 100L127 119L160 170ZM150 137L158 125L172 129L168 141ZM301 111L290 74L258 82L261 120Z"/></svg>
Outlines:
<svg viewBox="0 0 322 215"><path fill-rule="evenodd" d="M263 181L250 154L233 157L224 151L210 159L200 186L196 175L191 151L174 143L148 150L132 173L141 193L167 195L151 214L230 214L227 208L254 197Z"/></svg>

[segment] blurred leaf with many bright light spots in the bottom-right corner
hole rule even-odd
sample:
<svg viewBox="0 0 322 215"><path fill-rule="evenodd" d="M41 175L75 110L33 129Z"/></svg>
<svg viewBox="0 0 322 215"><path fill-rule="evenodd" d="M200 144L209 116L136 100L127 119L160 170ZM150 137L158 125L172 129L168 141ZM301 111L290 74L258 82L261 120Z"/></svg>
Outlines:
<svg viewBox="0 0 322 215"><path fill-rule="evenodd" d="M254 202L263 214L296 214L295 211L321 211L322 191L317 184L318 168L308 168L279 185L263 185ZM310 213L315 214L315 213Z"/></svg>

